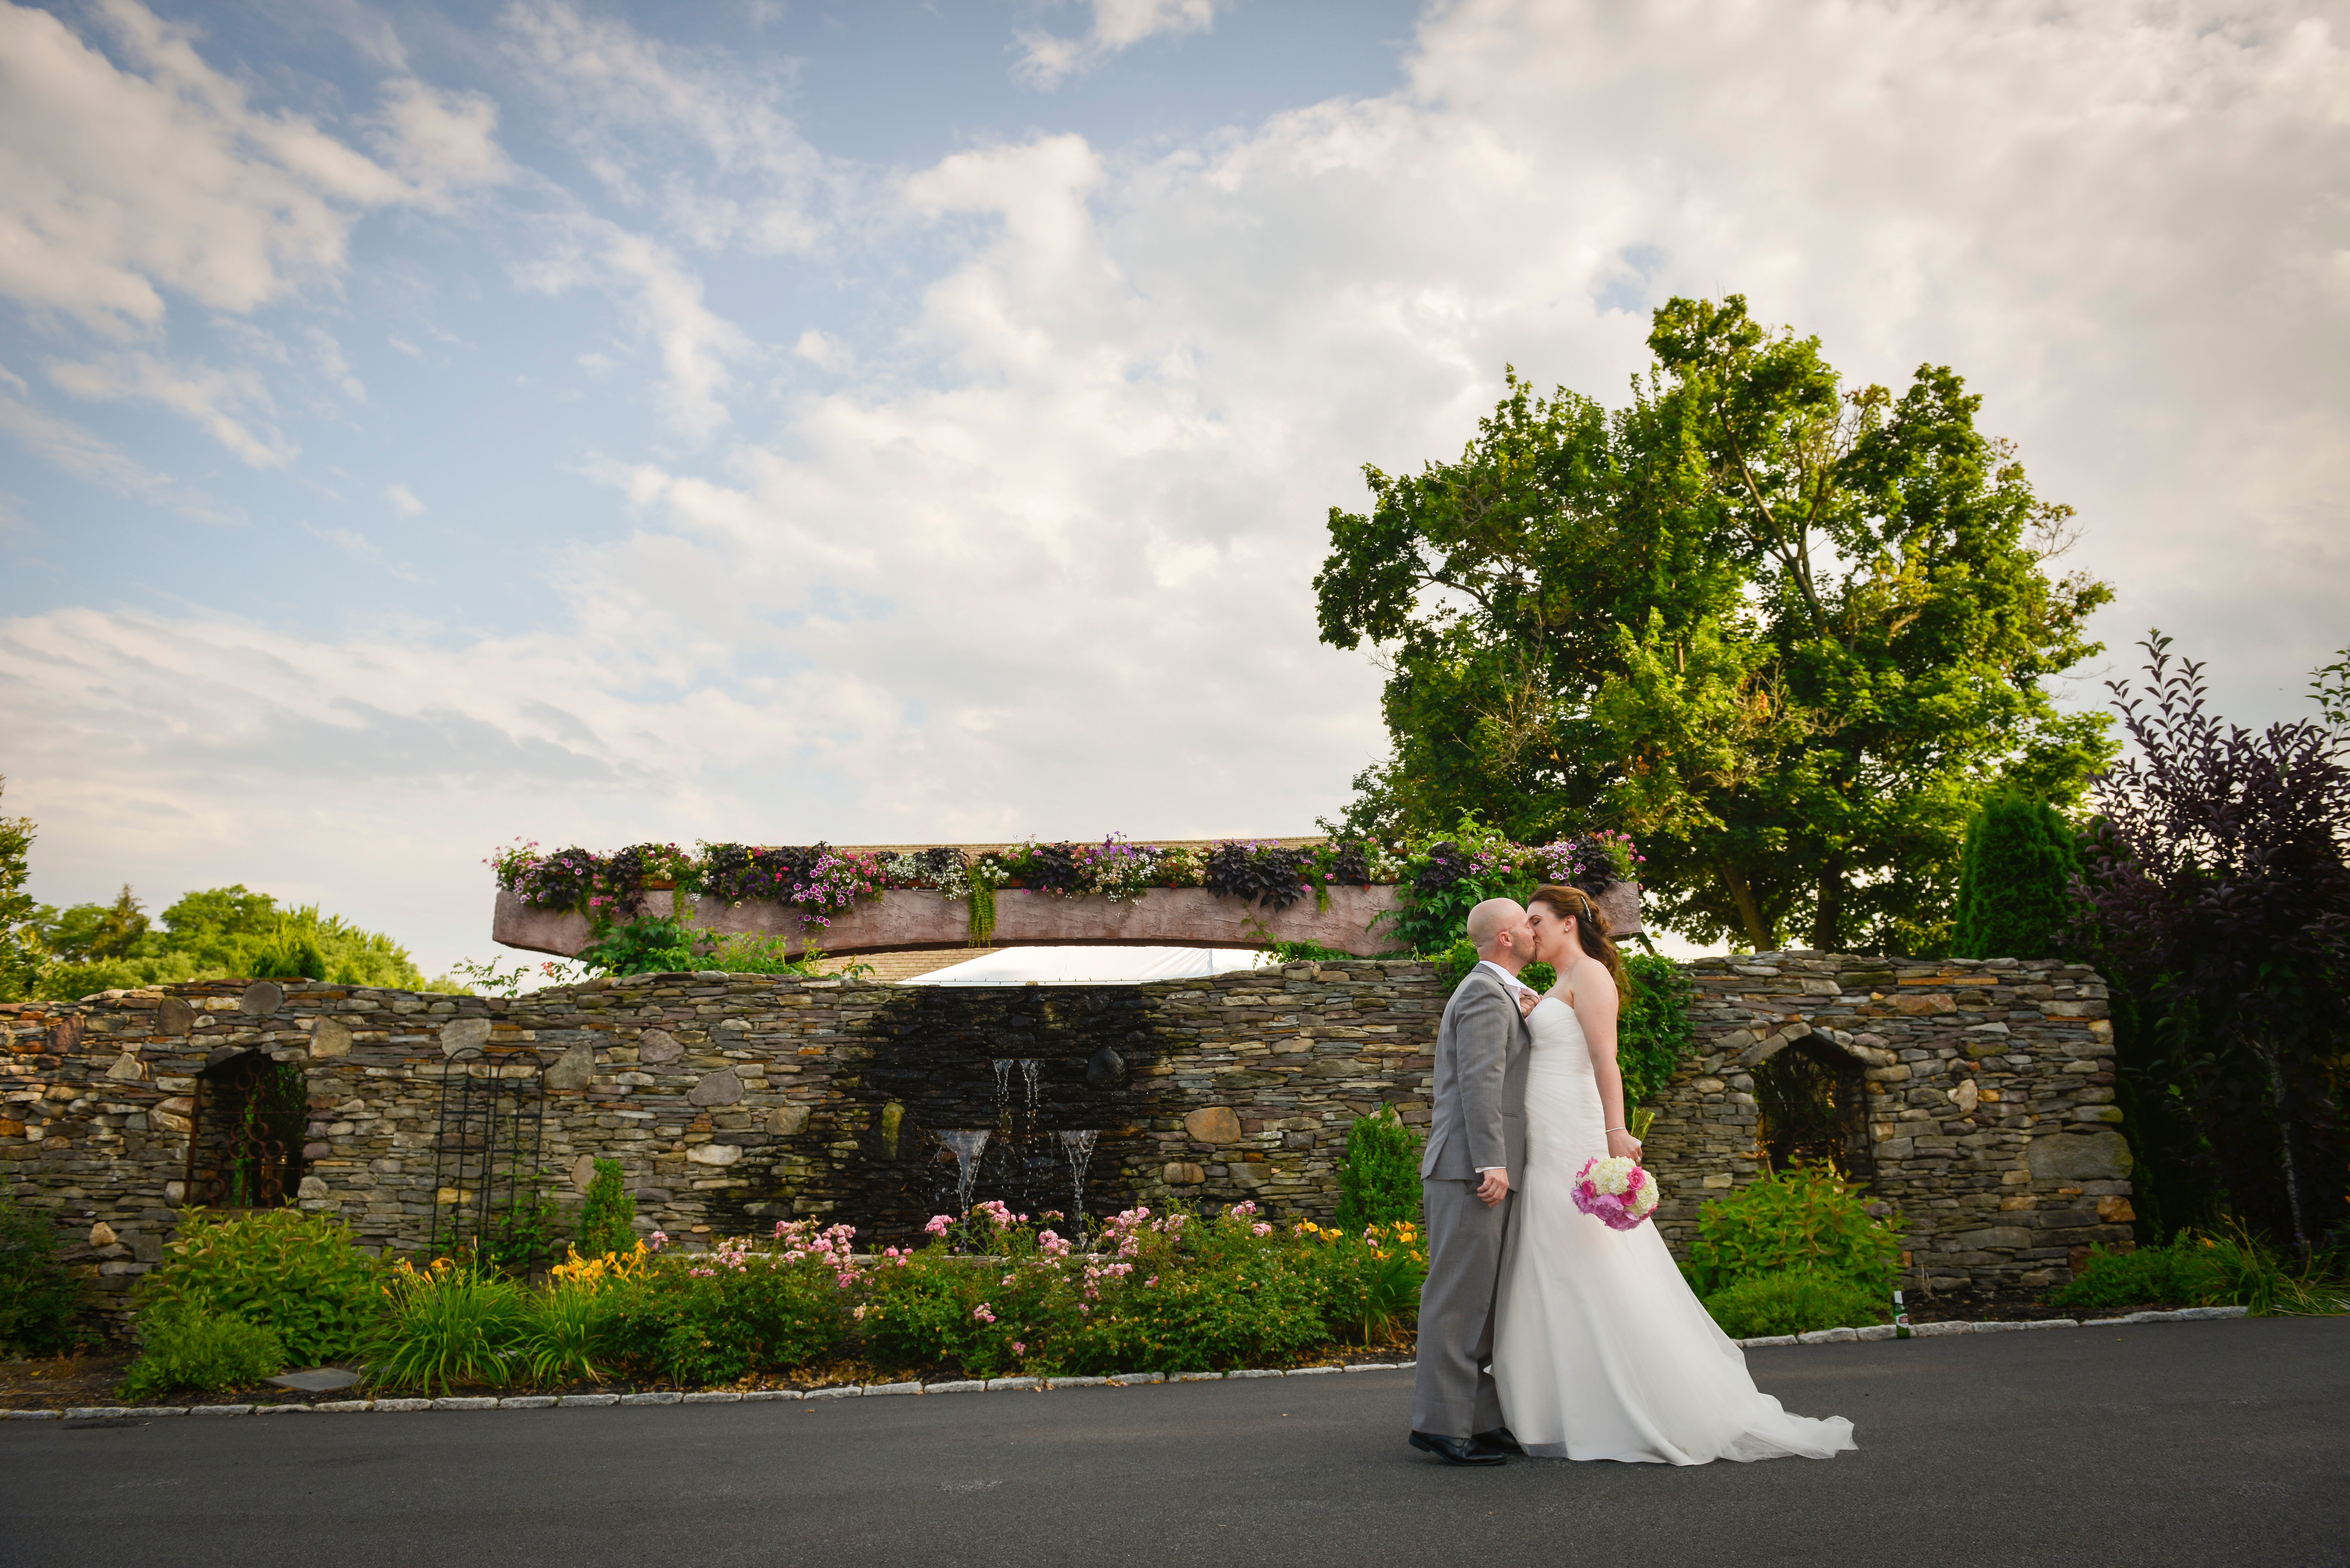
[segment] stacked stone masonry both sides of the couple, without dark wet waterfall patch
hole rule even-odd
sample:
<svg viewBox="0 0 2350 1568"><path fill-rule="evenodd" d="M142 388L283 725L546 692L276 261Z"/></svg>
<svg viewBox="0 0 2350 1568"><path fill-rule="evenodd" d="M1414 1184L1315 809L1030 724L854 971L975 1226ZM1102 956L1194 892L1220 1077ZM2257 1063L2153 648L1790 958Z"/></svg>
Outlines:
<svg viewBox="0 0 2350 1568"><path fill-rule="evenodd" d="M1821 954L1690 973L1699 1056L1661 1093L1647 1145L1676 1251L1704 1199L1760 1173L1748 1072L1793 1041L1866 1067L1875 1187L1911 1215L1936 1286L2049 1284L2092 1241L2127 1241L2129 1157L2094 973ZM1135 992L1135 1088L1095 1166L1107 1201L1255 1199L1328 1220L1356 1114L1391 1103L1426 1124L1448 994L1429 964L1290 964ZM0 1161L19 1201L54 1213L68 1258L120 1293L176 1225L195 1074L266 1051L308 1079L298 1204L371 1246L423 1248L446 1197L442 1077L470 1046L543 1063L540 1166L564 1204L602 1157L620 1161L639 1229L689 1244L771 1218L855 1218L855 1182L900 1159L905 1112L870 1079L888 1051L921 1051L902 1039L909 1006L895 985L717 973L517 999L287 980L9 1004Z"/></svg>

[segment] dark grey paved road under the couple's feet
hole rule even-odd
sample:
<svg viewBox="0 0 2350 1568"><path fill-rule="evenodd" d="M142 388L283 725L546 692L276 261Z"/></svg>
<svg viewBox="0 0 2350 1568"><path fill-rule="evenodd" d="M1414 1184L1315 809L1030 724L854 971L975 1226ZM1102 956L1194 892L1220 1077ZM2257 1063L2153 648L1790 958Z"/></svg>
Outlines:
<svg viewBox="0 0 2350 1568"><path fill-rule="evenodd" d="M1448 1469L1410 1373L0 1425L0 1563L2350 1563L2350 1321L1748 1354L1859 1453Z"/></svg>

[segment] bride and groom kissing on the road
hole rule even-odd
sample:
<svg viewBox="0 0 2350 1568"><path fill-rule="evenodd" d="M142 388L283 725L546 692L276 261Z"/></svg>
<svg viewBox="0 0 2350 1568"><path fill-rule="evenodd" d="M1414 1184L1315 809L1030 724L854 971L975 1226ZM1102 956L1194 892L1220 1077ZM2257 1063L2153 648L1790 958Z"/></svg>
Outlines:
<svg viewBox="0 0 2350 1568"><path fill-rule="evenodd" d="M1436 1105L1419 1161L1429 1281L1419 1291L1412 1446L1452 1465L1546 1460L1708 1465L1824 1460L1842 1415L1788 1415L1690 1291L1654 1225L1610 1229L1574 1206L1589 1159L1640 1159L1624 1121L1624 964L1582 889L1469 910L1478 966L1436 1032ZM1546 994L1518 983L1558 971Z"/></svg>

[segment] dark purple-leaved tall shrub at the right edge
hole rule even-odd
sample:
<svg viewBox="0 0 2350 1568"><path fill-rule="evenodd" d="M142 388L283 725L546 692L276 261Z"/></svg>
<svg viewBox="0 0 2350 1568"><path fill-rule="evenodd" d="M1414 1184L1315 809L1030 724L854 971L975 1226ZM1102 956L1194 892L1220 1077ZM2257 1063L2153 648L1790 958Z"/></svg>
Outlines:
<svg viewBox="0 0 2350 1568"><path fill-rule="evenodd" d="M2146 686L2113 682L2134 755L2096 785L2084 877L2094 959L2124 1001L2117 1065L2162 1133L2141 1126L2141 1152L2160 1190L2310 1251L2350 1190L2345 743L2225 724L2202 665L2160 632L2143 646Z"/></svg>

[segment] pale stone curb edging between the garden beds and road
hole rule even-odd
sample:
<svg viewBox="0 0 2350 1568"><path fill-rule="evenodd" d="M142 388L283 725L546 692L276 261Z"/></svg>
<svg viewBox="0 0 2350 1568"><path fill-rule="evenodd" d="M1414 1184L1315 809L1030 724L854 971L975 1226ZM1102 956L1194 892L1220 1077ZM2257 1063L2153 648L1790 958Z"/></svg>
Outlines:
<svg viewBox="0 0 2350 1568"><path fill-rule="evenodd" d="M2249 1307L2181 1307L2176 1312L2131 1312L2127 1316L2070 1319L2052 1316L2028 1324L1918 1324L1911 1335L1941 1340L1953 1333L2023 1333L2033 1328L2115 1328L2122 1324L2202 1324L2249 1316ZM1814 1328L1812 1333L1758 1335L1732 1340L1741 1349L1777 1345L1849 1345L1856 1340L1892 1340L1892 1324L1866 1328ZM1050 1389L1137 1387L1152 1382L1238 1382L1243 1378L1323 1378L1330 1373L1408 1373L1417 1361L1363 1361L1356 1366L1253 1368L1241 1373L1114 1373L1109 1378L961 1378L954 1382L848 1382L830 1389L754 1389L747 1394L510 1394L505 1399L331 1399L315 1406L75 1406L68 1410L0 1410L0 1420L125 1420L157 1415L343 1415L357 1410L578 1410L604 1406L731 1406L773 1399L881 1399L886 1394L1008 1394Z"/></svg>

